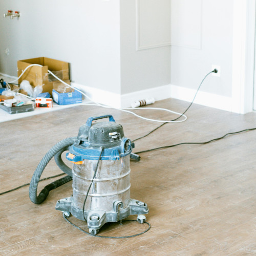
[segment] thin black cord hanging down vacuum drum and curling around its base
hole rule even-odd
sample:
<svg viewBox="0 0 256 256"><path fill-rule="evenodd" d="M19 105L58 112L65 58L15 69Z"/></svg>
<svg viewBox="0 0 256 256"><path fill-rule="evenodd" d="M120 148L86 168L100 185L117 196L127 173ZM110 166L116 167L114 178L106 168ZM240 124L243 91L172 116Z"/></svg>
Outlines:
<svg viewBox="0 0 256 256"><path fill-rule="evenodd" d="M92 186L92 184L93 184L93 181L94 181L94 179L95 179L95 177L96 177L97 170L98 170L98 166L99 166L99 161L100 161L101 154L102 154L103 150L104 150L104 147L101 147L99 159L98 159L98 161L97 161L97 164L96 164L96 167L95 167L95 170L94 170L94 175L93 175L92 181L91 181L91 183L90 183L90 186L89 186L89 188L88 188L88 190L87 190L86 198L85 198L84 201L83 201L82 212L83 212L83 219L84 219L84 221L86 221L86 216L84 216L84 206L86 205L86 201L87 201L87 197L88 197L88 195L89 195L89 191L90 191L91 186ZM80 227L78 227L77 225L75 225L74 223L72 223L71 221L69 221L64 212L63 212L63 218L64 218L68 223L70 223L72 226L74 226L74 227L76 227L77 229L79 229L80 231L82 231L82 232L84 232L84 233L87 233L87 234L90 234L90 236L93 236L93 237L100 237L100 238L133 238L133 237L139 236L140 234L144 234L146 231L150 230L150 228L151 228L150 223L144 222L144 223L146 223L146 224L148 225L148 228L147 228L146 230L144 230L143 232L137 233L137 234L133 234L132 236L124 236L124 237L99 236L98 234L91 234L90 232L87 232L86 230L81 229ZM127 222L127 221L130 221L130 222L131 222L131 221L136 221L136 220L122 220L122 221L123 221L123 222L125 222L125 221L126 221L126 222ZM136 222L137 222L137 221L136 221Z"/></svg>

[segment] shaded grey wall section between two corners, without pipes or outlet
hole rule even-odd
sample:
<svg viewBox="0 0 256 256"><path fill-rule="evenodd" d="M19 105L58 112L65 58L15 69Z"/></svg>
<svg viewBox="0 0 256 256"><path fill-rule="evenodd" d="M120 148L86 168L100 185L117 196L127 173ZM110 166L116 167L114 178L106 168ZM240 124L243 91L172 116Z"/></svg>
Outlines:
<svg viewBox="0 0 256 256"><path fill-rule="evenodd" d="M170 83L170 0L121 0L121 94Z"/></svg>

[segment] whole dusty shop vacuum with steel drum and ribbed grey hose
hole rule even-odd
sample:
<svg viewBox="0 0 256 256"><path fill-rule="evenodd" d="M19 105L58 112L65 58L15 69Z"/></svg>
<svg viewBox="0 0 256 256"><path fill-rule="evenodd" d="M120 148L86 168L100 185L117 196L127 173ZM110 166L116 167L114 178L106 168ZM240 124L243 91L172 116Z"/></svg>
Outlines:
<svg viewBox="0 0 256 256"><path fill-rule="evenodd" d="M109 121L96 121L103 118ZM50 190L73 179L73 195L58 200L55 208L67 218L72 215L86 221L90 234L96 235L107 222L118 222L130 215L137 215L137 221L144 223L147 204L130 198L130 158L139 160L132 148L133 143L112 115L88 118L77 137L60 141L42 158L30 183L30 200L40 204ZM72 169L61 159L65 151ZM67 176L50 183L37 196L41 174L53 157Z"/></svg>

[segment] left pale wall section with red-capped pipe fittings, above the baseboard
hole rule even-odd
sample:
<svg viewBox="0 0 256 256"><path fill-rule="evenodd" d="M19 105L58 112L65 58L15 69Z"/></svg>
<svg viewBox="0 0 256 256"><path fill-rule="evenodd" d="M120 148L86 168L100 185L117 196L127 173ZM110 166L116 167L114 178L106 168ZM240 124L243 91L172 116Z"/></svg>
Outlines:
<svg viewBox="0 0 256 256"><path fill-rule="evenodd" d="M19 59L45 56L71 63L74 82L120 93L119 1L0 0L0 72L17 75ZM6 48L10 54L5 55Z"/></svg>

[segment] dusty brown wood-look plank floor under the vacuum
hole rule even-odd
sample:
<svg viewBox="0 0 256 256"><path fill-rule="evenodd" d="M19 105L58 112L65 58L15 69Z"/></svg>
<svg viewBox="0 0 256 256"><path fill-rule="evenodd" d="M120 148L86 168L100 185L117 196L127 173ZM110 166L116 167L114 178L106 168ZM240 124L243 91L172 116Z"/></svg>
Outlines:
<svg viewBox="0 0 256 256"><path fill-rule="evenodd" d="M182 112L188 105L174 99L154 106ZM159 111L146 117L173 119ZM57 142L76 136L90 116L112 114L124 134L136 139L157 127L117 110L96 106L40 114L1 123L0 193L30 182L45 153ZM134 152L180 142L204 142L256 127L256 113L239 115L193 104L182 123L165 124L135 142ZM72 195L72 182L33 204L23 187L0 196L1 255L255 255L256 131L230 135L205 145L179 145L142 153L131 162L131 198L148 204L152 228L141 236L103 239L71 226L56 201ZM61 173L52 160L42 178ZM51 181L39 183L41 190ZM129 219L136 219L130 216ZM86 223L70 220L86 229ZM129 236L146 224L105 224L101 236Z"/></svg>

